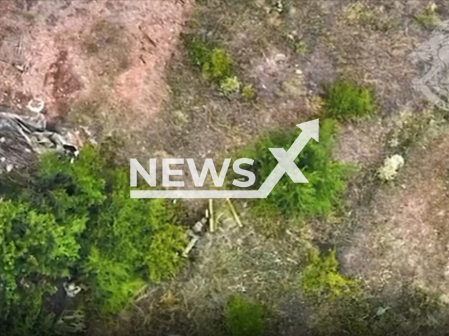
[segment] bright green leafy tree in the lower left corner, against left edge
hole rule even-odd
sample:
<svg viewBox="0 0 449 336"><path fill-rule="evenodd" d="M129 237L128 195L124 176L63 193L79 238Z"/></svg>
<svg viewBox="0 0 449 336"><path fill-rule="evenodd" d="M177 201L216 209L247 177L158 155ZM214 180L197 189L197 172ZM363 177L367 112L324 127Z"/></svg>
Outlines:
<svg viewBox="0 0 449 336"><path fill-rule="evenodd" d="M42 297L55 292L51 279L69 274L80 248L74 237L84 225L61 225L25 202L0 202L1 335L26 335L46 323Z"/></svg>

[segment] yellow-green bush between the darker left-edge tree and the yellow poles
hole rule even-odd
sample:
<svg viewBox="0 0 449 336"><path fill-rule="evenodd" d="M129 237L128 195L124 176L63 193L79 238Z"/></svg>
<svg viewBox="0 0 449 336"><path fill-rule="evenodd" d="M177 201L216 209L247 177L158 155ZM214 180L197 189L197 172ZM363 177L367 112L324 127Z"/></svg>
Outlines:
<svg viewBox="0 0 449 336"><path fill-rule="evenodd" d="M159 281L180 265L184 232L165 200L131 200L127 172L107 168L98 148L85 148L74 165L54 156L43 161L43 178L65 176L51 191L53 209L88 216L83 238L94 298L103 311L117 311L130 300L142 279ZM39 179L38 179L39 181ZM64 218L69 216L64 213ZM161 245L161 237L164 243ZM155 246L157 248L155 248ZM84 262L84 261L83 261Z"/></svg>

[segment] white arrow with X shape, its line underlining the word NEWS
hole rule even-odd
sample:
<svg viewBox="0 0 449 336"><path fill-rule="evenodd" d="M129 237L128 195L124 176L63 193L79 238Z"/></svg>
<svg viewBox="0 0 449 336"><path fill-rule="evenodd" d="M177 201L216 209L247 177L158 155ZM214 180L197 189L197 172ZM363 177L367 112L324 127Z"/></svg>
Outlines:
<svg viewBox="0 0 449 336"><path fill-rule="evenodd" d="M304 174L295 165L297 155L307 145L310 139L319 141L319 119L296 125L302 130L292 146L285 151L283 148L269 148L279 161L269 174L259 190L131 190L131 198L266 198L272 192L283 174L287 173L294 183L308 183Z"/></svg>

